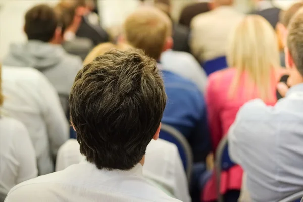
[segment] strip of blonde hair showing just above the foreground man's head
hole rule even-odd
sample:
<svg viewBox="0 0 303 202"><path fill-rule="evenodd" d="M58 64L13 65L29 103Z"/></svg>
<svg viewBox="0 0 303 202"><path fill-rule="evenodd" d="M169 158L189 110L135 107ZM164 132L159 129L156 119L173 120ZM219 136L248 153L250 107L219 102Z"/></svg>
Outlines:
<svg viewBox="0 0 303 202"><path fill-rule="evenodd" d="M96 47L94 47L91 52L89 52L89 54L86 56L86 58L83 62L83 65L90 63L96 57L103 55L105 52L111 51L113 49L119 49L122 51L126 51L126 49L131 49L131 48L133 48L131 45L128 45L125 43L121 43L118 45L110 43L110 42L101 43L101 44L97 45Z"/></svg>

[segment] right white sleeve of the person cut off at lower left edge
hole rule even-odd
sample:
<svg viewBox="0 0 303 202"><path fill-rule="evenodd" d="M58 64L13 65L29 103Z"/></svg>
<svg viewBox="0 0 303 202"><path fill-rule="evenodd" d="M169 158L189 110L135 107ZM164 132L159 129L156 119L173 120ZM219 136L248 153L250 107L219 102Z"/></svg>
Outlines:
<svg viewBox="0 0 303 202"><path fill-rule="evenodd" d="M18 122L14 126L15 155L19 163L16 183L35 178L38 175L35 150L25 126Z"/></svg>

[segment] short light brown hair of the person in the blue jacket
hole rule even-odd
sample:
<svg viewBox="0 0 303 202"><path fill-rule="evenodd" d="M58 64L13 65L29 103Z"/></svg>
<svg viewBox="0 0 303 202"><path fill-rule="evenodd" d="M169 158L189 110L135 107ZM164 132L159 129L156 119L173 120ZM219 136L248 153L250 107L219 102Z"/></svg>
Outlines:
<svg viewBox="0 0 303 202"><path fill-rule="evenodd" d="M171 36L172 23L162 11L141 7L126 18L124 33L130 45L142 49L158 60L167 37Z"/></svg>

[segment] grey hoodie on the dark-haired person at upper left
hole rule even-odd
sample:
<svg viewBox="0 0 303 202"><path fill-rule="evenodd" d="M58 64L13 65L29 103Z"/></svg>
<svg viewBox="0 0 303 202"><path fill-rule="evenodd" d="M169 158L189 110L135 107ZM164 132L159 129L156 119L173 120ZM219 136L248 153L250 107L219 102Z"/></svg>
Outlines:
<svg viewBox="0 0 303 202"><path fill-rule="evenodd" d="M24 44L12 44L3 64L33 67L42 72L57 90L62 107L67 112L71 87L82 68L80 57L68 54L61 45L30 40Z"/></svg>

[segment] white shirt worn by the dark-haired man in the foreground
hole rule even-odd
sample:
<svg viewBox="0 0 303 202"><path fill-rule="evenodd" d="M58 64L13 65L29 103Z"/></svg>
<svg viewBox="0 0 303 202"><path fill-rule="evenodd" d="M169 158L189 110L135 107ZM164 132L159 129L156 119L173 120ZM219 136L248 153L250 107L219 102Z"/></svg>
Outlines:
<svg viewBox="0 0 303 202"><path fill-rule="evenodd" d="M154 187L138 163L128 171L99 170L82 162L63 171L40 176L14 187L6 202L142 202L179 201Z"/></svg>

